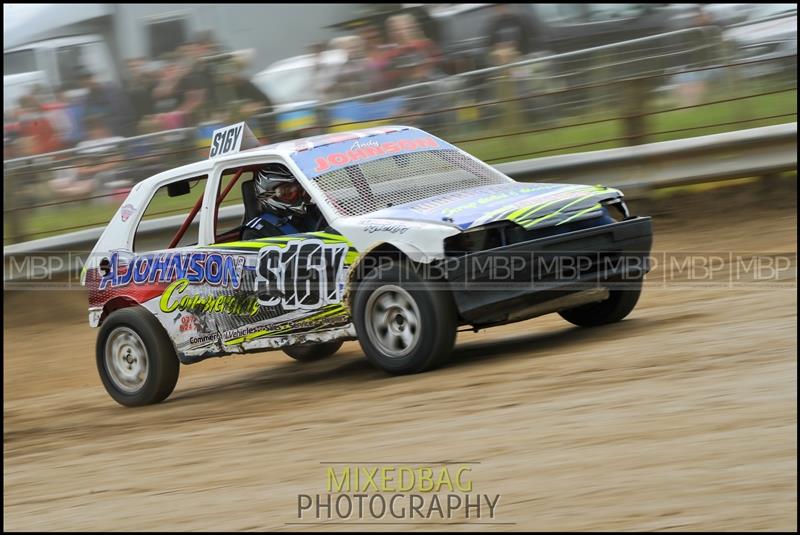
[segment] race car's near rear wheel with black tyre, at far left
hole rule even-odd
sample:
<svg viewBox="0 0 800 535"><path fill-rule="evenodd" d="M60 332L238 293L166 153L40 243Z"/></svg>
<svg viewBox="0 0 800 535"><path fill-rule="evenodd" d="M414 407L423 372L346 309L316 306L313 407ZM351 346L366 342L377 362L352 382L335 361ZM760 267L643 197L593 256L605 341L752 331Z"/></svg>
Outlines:
<svg viewBox="0 0 800 535"><path fill-rule="evenodd" d="M164 401L180 362L164 328L140 306L116 310L97 336L97 371L109 395L126 407Z"/></svg>

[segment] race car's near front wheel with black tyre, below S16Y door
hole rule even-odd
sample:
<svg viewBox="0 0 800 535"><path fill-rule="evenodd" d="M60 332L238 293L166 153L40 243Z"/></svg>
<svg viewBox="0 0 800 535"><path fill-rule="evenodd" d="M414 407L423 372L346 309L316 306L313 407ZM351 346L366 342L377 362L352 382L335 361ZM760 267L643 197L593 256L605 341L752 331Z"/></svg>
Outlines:
<svg viewBox="0 0 800 535"><path fill-rule="evenodd" d="M367 359L391 374L443 364L455 345L458 317L449 289L436 288L407 261L383 262L356 286L356 333Z"/></svg>

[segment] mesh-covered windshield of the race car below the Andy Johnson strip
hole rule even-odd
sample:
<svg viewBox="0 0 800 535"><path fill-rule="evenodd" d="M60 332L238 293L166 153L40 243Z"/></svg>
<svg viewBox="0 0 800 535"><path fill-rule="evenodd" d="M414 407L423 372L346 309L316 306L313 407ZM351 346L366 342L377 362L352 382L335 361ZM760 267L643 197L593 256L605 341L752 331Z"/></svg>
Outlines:
<svg viewBox="0 0 800 535"><path fill-rule="evenodd" d="M358 216L511 179L453 149L398 154L319 175L313 182L342 216Z"/></svg>

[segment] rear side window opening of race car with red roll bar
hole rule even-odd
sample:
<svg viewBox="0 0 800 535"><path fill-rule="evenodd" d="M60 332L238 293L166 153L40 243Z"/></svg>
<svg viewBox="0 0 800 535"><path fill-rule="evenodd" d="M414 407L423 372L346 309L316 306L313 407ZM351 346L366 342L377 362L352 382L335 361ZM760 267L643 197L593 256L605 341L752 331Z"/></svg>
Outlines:
<svg viewBox="0 0 800 535"><path fill-rule="evenodd" d="M198 209L180 241L173 248L196 245L199 237L200 210L208 177L179 180L156 190L142 214L133 240L133 251L142 253L169 249L173 238L189 214Z"/></svg>

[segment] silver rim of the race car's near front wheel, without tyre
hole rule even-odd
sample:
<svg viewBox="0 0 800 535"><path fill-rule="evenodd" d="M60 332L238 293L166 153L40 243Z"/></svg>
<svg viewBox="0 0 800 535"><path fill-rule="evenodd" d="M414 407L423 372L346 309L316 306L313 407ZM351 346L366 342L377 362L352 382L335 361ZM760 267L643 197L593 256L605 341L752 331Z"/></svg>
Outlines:
<svg viewBox="0 0 800 535"><path fill-rule="evenodd" d="M364 314L370 341L386 356L404 357L419 343L419 307L399 286L381 286L372 292Z"/></svg>

